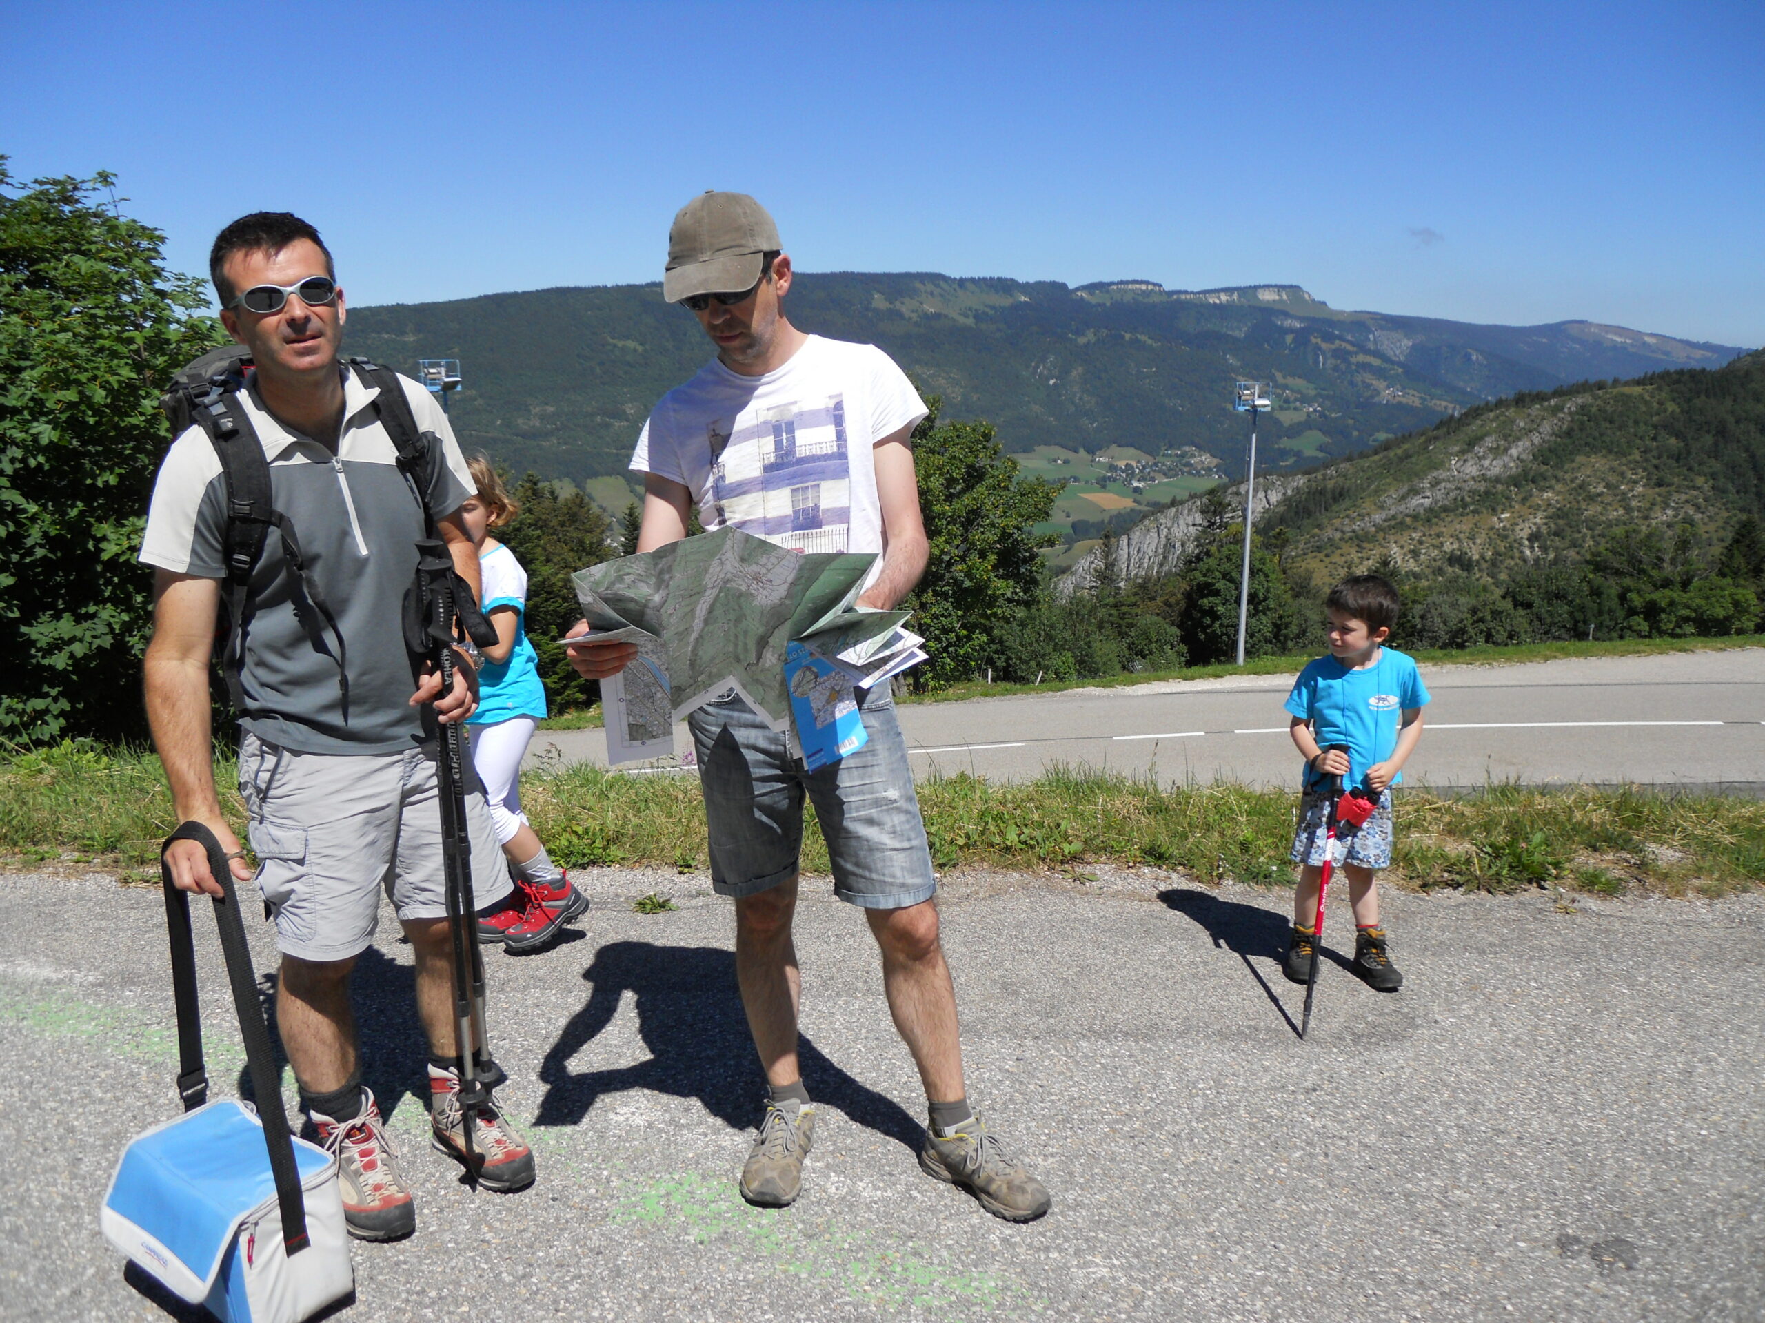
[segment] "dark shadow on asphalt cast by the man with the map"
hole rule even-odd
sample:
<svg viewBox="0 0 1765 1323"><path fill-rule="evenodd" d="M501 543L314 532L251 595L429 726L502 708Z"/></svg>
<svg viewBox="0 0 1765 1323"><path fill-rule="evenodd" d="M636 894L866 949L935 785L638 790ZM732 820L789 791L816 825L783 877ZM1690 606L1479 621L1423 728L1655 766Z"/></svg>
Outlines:
<svg viewBox="0 0 1765 1323"><path fill-rule="evenodd" d="M759 1122L764 1078L741 1013L731 951L609 942L582 977L593 991L540 1064L545 1095L535 1125L575 1125L597 1101L630 1088L695 1097L731 1129ZM637 1000L637 1032L650 1060L616 1071L572 1073L570 1058L612 1021L627 991ZM817 1108L837 1108L877 1134L920 1147L920 1122L828 1060L808 1035L800 1039L798 1058Z"/></svg>

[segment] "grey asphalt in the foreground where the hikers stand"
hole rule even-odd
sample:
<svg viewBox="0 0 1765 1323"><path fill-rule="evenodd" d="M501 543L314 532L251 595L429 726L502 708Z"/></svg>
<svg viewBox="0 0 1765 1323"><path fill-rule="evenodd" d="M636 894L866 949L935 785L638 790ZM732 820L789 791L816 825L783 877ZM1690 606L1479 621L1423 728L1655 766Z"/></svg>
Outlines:
<svg viewBox="0 0 1765 1323"><path fill-rule="evenodd" d="M1564 914L1396 894L1408 984L1380 997L1329 965L1299 1043L1281 893L1147 870L951 878L971 1097L1054 1191L1048 1217L1010 1226L918 1171L874 947L824 884L798 926L821 1106L807 1192L743 1205L759 1071L729 910L702 877L581 880L584 937L491 961L503 1097L540 1159L524 1194L471 1194L427 1148L390 916L364 958L367 1076L420 1222L355 1247L344 1318L1765 1314L1765 896ZM634 914L651 889L681 908ZM240 1053L199 919L226 1090ZM0 878L4 1318L164 1318L97 1231L124 1143L176 1111L162 926L152 889Z"/></svg>

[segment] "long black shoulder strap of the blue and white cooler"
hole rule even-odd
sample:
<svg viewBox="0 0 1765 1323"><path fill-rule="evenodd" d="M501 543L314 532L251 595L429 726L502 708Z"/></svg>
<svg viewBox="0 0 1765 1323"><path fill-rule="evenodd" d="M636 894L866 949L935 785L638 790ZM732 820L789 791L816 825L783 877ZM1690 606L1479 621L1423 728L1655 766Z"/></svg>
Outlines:
<svg viewBox="0 0 1765 1323"><path fill-rule="evenodd" d="M233 889L233 871L228 868L221 841L201 822L185 822L159 847L161 880L166 887L166 912L173 910L171 893L184 896L171 882L171 864L166 850L175 841L196 841L208 856L208 871L224 894L215 898L215 923L221 928L221 951L226 956L228 983L233 986L233 1007L238 1011L238 1032L245 1041L245 1064L251 1069L251 1090L258 1101L258 1120L263 1124L263 1143L270 1154L270 1173L275 1177L275 1198L282 1212L282 1244L289 1254L298 1254L311 1242L307 1237L307 1207L300 1194L300 1170L295 1166L295 1141L288 1129L288 1110L282 1106L282 1081L270 1055L270 1028L258 1000L258 972L251 963L251 946L245 942L245 924L238 917L238 894ZM184 960L191 1005L196 1065L201 1067L201 1027L196 1021L196 954L191 942L189 905L184 912ZM178 995L178 1048L185 1048L185 993L178 981L178 930L173 921L171 968ZM185 1058L187 1064L189 1058ZM184 1076L178 1076L180 1090Z"/></svg>

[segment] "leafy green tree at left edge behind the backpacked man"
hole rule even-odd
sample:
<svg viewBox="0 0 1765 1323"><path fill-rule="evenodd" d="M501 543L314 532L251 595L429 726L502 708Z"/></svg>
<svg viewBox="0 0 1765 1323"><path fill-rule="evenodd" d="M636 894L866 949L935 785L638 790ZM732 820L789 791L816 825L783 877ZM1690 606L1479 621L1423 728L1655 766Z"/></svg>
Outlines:
<svg viewBox="0 0 1765 1323"><path fill-rule="evenodd" d="M224 340L113 182L16 191L0 157L0 739L145 730L134 556L169 441L159 393Z"/></svg>

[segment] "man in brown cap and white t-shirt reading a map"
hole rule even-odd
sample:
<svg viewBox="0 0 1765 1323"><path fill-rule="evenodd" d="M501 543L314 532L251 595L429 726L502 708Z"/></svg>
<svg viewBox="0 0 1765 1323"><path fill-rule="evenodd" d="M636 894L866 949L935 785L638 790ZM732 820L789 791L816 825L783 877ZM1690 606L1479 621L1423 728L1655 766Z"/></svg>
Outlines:
<svg viewBox="0 0 1765 1323"><path fill-rule="evenodd" d="M925 572L909 437L927 409L875 346L792 326L784 312L789 291L791 258L773 219L747 194L706 192L674 217L662 296L699 318L717 358L664 395L637 437L637 550L687 536L697 505L706 529L740 527L803 552L875 552L858 600L888 609ZM586 628L579 623L572 633ZM593 679L634 656L628 644L570 647L570 663ZM937 880L888 686L861 693L860 711L868 743L814 773L740 697L688 718L711 882L736 901L736 979L770 1092L741 1196L762 1207L792 1203L814 1141L814 1106L798 1071L801 979L791 938L808 796L828 841L833 894L870 921L890 1013L925 1083L920 1166L969 1189L988 1212L1027 1222L1048 1210L1048 1192L967 1102L957 997L932 900Z"/></svg>

